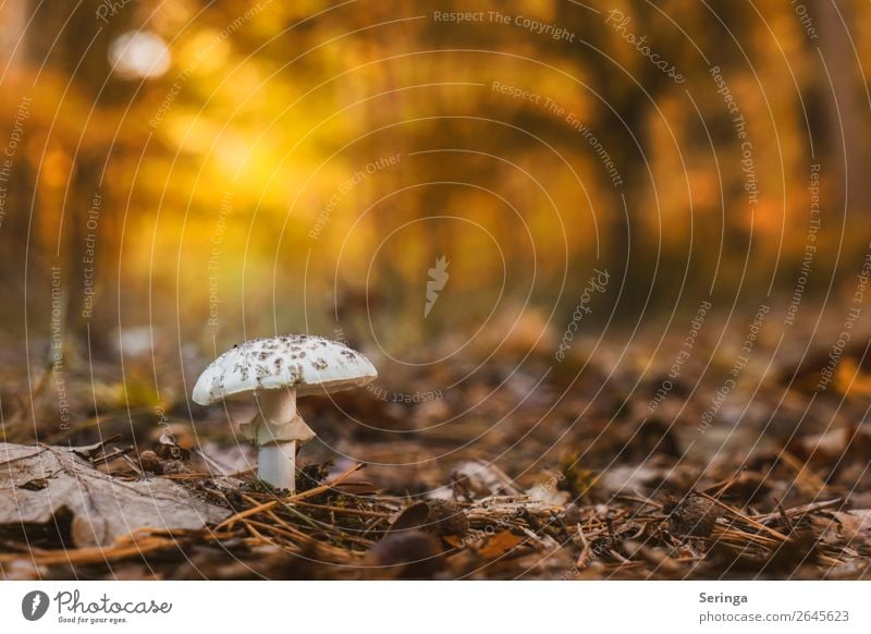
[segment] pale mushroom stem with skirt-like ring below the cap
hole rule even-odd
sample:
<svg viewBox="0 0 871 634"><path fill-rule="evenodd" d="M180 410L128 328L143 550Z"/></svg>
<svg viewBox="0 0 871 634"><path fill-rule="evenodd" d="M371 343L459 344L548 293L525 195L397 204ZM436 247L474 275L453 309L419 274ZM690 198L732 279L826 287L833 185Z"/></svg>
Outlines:
<svg viewBox="0 0 871 634"><path fill-rule="evenodd" d="M315 432L296 412L296 390L263 390L257 393L260 412L247 434L259 447L257 477L281 489L296 491L296 448Z"/></svg>

